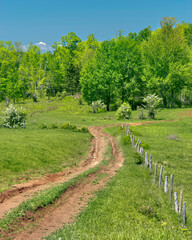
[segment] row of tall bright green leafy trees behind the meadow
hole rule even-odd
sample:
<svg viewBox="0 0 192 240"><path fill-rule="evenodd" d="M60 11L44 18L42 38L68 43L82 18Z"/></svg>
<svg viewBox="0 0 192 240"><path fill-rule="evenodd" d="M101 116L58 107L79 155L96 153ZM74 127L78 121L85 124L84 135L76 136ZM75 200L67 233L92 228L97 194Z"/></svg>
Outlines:
<svg viewBox="0 0 192 240"><path fill-rule="evenodd" d="M32 43L25 51L20 42L0 41L0 100L81 92L89 104L101 100L115 110L123 102L135 109L156 94L163 107L191 106L192 24L165 17L160 26L102 42L71 32L45 53Z"/></svg>

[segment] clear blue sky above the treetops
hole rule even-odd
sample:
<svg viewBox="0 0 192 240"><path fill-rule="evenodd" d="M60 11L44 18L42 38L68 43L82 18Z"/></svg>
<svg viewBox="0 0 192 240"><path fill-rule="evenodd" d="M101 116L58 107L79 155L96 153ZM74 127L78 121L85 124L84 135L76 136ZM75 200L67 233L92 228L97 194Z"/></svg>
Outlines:
<svg viewBox="0 0 192 240"><path fill-rule="evenodd" d="M105 40L118 30L128 34L148 25L156 29L165 16L192 22L192 0L0 0L0 40L50 45L68 32L82 40L89 33Z"/></svg>

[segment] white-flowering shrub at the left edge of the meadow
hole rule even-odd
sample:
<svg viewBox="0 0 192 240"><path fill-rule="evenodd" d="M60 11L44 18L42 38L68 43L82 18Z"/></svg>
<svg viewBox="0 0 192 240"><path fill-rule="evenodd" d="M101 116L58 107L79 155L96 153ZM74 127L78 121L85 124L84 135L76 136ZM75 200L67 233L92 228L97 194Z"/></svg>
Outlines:
<svg viewBox="0 0 192 240"><path fill-rule="evenodd" d="M3 119L3 127L17 128L25 127L26 112L23 108L17 109L12 104L6 108Z"/></svg>

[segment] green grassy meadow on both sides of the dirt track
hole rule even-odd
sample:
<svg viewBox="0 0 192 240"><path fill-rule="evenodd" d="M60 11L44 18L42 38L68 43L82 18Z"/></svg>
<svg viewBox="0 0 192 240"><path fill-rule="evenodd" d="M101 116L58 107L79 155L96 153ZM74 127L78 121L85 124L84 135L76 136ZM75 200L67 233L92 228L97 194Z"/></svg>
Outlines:
<svg viewBox="0 0 192 240"><path fill-rule="evenodd" d="M184 189L187 226L182 226L169 196L153 183L149 169L137 164L131 146L122 143L124 132L120 127L107 128L123 149L124 166L74 224L48 239L192 238L192 109L163 109L156 120L139 120L138 112L133 111L131 119L117 121L115 112L93 114L90 106L72 97L26 101L17 106L28 113L26 129L0 128L0 192L15 183L72 167L86 157L92 136L63 129L62 125L69 122L81 129L87 125L153 121L130 129L136 140L142 141L144 150L152 154L153 162L164 166L163 177L174 175L174 191ZM0 111L4 109L5 103L1 103Z"/></svg>

